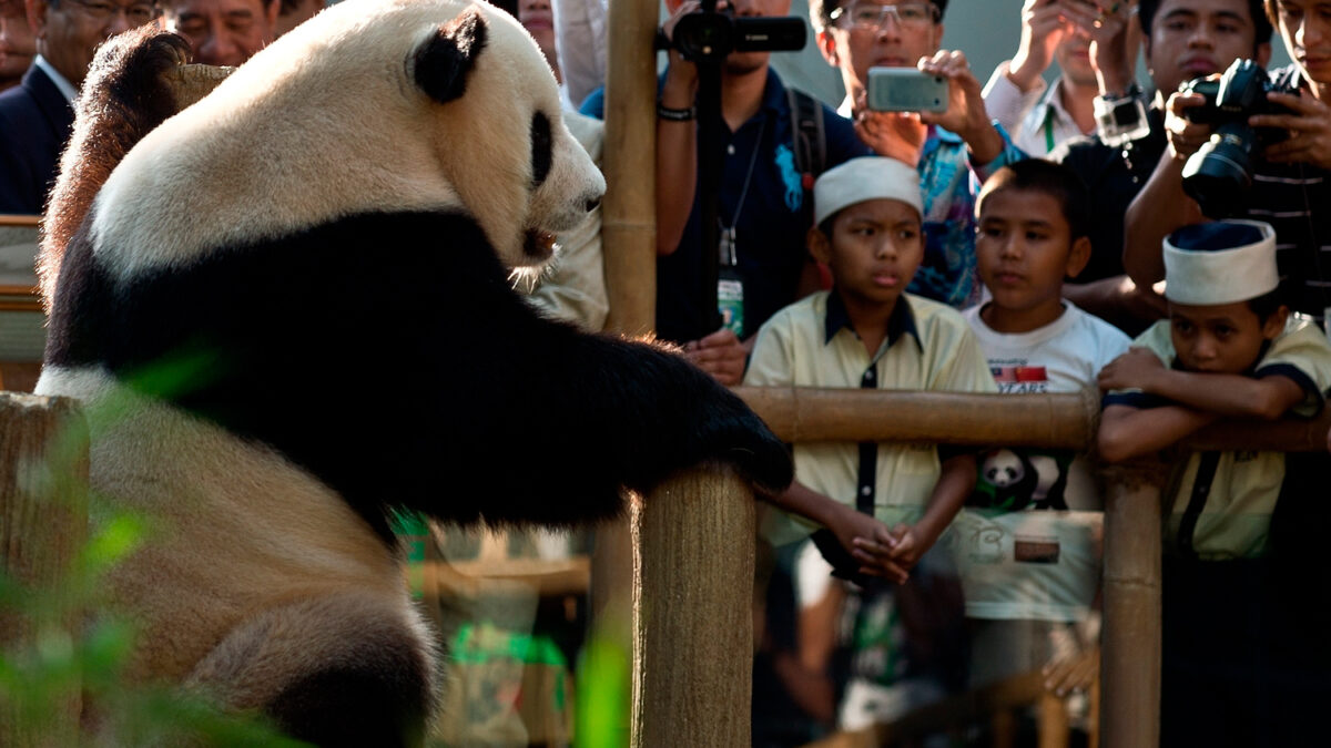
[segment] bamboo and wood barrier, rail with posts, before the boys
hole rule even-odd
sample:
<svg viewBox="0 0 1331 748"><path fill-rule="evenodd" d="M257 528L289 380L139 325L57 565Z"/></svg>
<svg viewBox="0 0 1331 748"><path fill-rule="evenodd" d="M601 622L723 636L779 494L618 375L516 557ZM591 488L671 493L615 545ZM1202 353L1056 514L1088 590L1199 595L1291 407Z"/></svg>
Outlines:
<svg viewBox="0 0 1331 748"><path fill-rule="evenodd" d="M1099 395L737 387L789 443L828 441L1025 446L1094 453ZM1312 421L1229 421L1189 450L1318 451ZM1158 461L1099 465L1105 498L1101 745L1159 744L1161 490ZM749 490L697 468L632 504L632 745L747 745L752 696L755 538ZM743 631L736 632L737 627ZM868 743L866 743L868 744Z"/></svg>

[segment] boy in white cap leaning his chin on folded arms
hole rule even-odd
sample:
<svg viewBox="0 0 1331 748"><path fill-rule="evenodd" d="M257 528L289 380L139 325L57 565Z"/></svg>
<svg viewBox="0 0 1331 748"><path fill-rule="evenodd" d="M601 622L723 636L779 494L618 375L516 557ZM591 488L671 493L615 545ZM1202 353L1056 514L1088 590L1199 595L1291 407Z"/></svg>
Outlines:
<svg viewBox="0 0 1331 748"><path fill-rule="evenodd" d="M1314 322L1280 303L1270 225L1185 226L1165 240L1163 260L1170 318L1099 375L1105 459L1162 450L1226 417L1274 421L1322 410L1331 346ZM1165 496L1162 745L1308 737L1272 737L1299 724L1290 705L1307 703L1298 683L1312 683L1288 677L1288 664L1272 660L1290 619L1270 596L1278 582L1268 564L1271 514L1292 463L1282 453L1211 451L1174 468Z"/></svg>

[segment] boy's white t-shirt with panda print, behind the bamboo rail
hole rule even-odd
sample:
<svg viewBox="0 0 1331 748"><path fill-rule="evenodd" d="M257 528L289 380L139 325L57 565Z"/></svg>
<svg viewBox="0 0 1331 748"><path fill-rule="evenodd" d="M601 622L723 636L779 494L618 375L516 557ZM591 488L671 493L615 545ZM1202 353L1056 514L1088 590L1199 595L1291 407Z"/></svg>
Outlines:
<svg viewBox="0 0 1331 748"><path fill-rule="evenodd" d="M962 313L1005 394L1075 393L1127 351L1117 327L1065 302L1054 322L1005 334L981 306ZM976 494L953 523L966 615L1078 620L1099 579L1103 503L1085 455L992 450L980 457Z"/></svg>

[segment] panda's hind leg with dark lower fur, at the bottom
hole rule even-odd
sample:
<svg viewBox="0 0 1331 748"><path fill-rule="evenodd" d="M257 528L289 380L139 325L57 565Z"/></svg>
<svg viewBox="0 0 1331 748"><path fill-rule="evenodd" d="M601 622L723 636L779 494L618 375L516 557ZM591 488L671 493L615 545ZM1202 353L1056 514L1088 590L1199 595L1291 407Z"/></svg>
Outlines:
<svg viewBox="0 0 1331 748"><path fill-rule="evenodd" d="M422 745L434 663L427 630L405 600L343 594L250 619L188 685L228 709L262 712L314 745Z"/></svg>

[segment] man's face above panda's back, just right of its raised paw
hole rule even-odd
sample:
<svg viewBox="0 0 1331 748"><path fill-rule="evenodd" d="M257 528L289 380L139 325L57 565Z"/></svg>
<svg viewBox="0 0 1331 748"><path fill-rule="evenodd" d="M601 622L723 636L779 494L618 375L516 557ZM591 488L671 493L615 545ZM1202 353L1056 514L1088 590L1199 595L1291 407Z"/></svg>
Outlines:
<svg viewBox="0 0 1331 748"><path fill-rule="evenodd" d="M189 40L194 61L240 65L277 37L280 0L165 0L166 28Z"/></svg>

